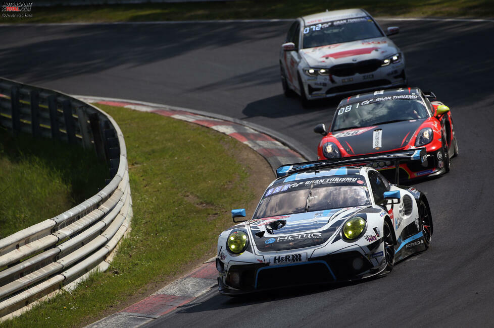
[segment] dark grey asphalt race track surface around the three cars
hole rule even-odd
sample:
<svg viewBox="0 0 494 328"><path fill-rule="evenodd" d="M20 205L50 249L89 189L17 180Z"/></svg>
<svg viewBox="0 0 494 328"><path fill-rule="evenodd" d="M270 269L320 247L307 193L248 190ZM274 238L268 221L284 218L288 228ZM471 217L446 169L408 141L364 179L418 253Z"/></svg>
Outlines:
<svg viewBox="0 0 494 328"><path fill-rule="evenodd" d="M382 21L404 51L410 86L452 110L460 156L427 193L431 247L381 279L230 298L216 290L161 326L494 326L494 23ZM282 95L278 49L289 22L0 27L0 76L79 94L243 119L298 139L337 101L302 109ZM191 173L192 174L192 173ZM239 204L241 206L241 204Z"/></svg>

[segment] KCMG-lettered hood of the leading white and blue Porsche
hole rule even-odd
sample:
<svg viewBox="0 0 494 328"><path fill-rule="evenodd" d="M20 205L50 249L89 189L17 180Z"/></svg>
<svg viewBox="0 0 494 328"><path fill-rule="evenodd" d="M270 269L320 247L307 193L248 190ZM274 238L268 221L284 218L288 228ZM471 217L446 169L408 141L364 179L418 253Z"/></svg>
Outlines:
<svg viewBox="0 0 494 328"><path fill-rule="evenodd" d="M315 211L251 220L248 226L261 252L317 246L341 229L344 221L368 206ZM282 224L279 229L273 230Z"/></svg>

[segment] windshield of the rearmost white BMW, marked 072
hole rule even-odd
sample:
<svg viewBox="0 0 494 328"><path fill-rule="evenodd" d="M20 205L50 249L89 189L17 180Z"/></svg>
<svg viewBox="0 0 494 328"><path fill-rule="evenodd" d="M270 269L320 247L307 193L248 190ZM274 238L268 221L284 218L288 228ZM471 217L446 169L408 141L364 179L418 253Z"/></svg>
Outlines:
<svg viewBox="0 0 494 328"><path fill-rule="evenodd" d="M304 27L302 48L381 37L382 32L370 17L349 18Z"/></svg>

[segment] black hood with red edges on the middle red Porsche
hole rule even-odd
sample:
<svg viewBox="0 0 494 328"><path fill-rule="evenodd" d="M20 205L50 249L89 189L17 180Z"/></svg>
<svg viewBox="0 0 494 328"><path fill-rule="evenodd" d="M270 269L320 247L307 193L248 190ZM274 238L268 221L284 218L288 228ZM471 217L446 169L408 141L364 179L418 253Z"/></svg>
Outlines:
<svg viewBox="0 0 494 328"><path fill-rule="evenodd" d="M425 118L401 122L379 124L341 130L329 134L326 138L335 138L350 155L364 155L399 150L408 145L415 131Z"/></svg>

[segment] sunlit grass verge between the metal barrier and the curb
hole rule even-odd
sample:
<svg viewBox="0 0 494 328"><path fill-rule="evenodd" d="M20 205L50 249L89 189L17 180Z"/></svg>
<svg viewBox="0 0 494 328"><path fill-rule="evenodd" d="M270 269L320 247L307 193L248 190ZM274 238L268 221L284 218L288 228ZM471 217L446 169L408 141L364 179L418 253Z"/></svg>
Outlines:
<svg viewBox="0 0 494 328"><path fill-rule="evenodd" d="M247 146L203 126L98 105L125 136L132 231L109 270L2 326L77 326L144 298L215 253L229 210L253 210L274 177ZM252 215L252 213L251 213Z"/></svg>

